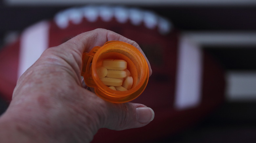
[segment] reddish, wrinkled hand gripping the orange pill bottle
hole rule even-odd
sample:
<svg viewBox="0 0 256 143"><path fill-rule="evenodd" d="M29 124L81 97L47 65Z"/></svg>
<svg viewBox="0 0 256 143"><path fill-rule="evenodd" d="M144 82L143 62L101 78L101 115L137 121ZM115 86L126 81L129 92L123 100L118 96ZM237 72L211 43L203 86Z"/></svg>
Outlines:
<svg viewBox="0 0 256 143"><path fill-rule="evenodd" d="M145 105L109 103L81 87L82 53L110 40L141 51L136 42L105 29L47 49L19 78L0 118L0 142L90 142L99 128L124 130L152 121L154 112Z"/></svg>

